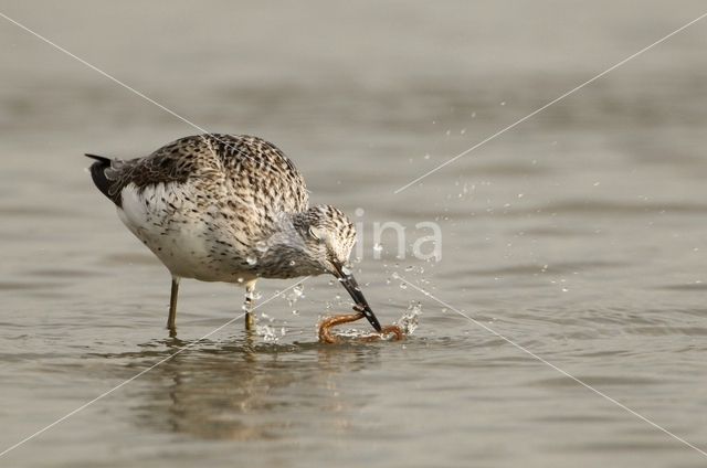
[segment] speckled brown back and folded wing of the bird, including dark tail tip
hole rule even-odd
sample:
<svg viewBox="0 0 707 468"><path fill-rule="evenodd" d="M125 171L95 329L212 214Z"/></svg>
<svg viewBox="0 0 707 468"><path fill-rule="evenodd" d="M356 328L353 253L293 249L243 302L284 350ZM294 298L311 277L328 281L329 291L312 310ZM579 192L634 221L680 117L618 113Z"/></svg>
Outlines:
<svg viewBox="0 0 707 468"><path fill-rule="evenodd" d="M270 212L300 212L308 205L299 171L277 147L257 137L196 135L165 145L144 158L98 159L92 167L94 181L102 182L96 185L118 206L127 185L143 190L189 181L221 192L219 199Z"/></svg>

